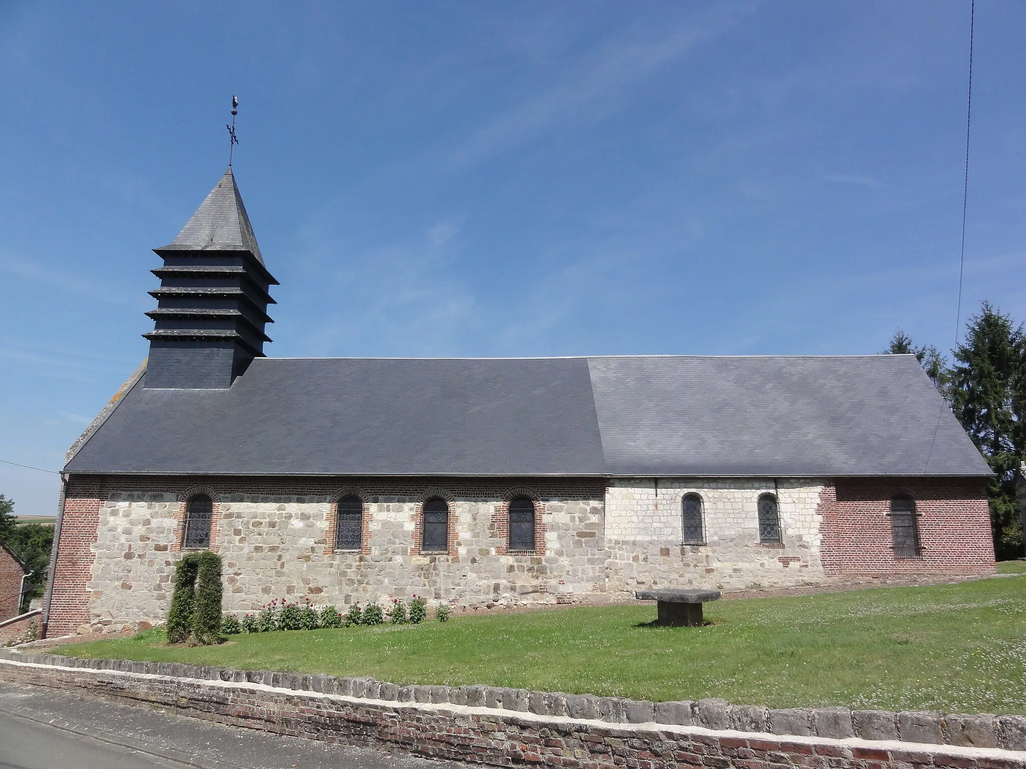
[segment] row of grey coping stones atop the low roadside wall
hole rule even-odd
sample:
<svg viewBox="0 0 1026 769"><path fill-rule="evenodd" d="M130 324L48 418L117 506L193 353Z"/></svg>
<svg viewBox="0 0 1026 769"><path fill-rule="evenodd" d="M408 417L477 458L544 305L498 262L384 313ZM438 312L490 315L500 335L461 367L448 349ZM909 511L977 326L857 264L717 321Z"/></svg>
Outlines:
<svg viewBox="0 0 1026 769"><path fill-rule="evenodd" d="M233 685L255 685L293 692L411 703L456 705L519 715L605 724L672 726L748 736L818 737L944 744L960 747L1026 752L1026 716L940 714L926 711L853 711L846 707L768 709L731 704L723 699L653 702L592 694L541 692L473 686L399 685L372 677L237 671L183 662L86 659L56 654L0 650L0 664L10 661L37 666L111 671ZM1026 761L1026 756L1023 757Z"/></svg>

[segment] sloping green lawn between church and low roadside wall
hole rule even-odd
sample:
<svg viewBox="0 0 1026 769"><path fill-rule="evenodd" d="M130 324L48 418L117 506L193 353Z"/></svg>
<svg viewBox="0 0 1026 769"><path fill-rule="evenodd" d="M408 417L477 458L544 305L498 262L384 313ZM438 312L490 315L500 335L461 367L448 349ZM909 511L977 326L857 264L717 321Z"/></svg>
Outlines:
<svg viewBox="0 0 1026 769"><path fill-rule="evenodd" d="M646 626L655 615L655 604L455 615L197 648L150 632L61 653L655 700L1026 714L1026 575L720 601L704 628Z"/></svg>

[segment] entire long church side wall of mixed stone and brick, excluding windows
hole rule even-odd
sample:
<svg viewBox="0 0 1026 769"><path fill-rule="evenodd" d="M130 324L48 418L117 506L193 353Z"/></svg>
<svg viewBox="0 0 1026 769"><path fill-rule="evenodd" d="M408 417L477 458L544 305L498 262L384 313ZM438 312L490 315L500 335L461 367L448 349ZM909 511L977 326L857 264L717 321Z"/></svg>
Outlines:
<svg viewBox="0 0 1026 769"><path fill-rule="evenodd" d="M787 586L890 574L992 572L985 489L975 480L242 479L74 477L68 487L49 637L164 621L186 502L213 499L225 609L273 599L342 610L416 594L457 610L630 600L639 588ZM923 550L896 559L890 499L910 494ZM703 503L705 542L682 543L681 500ZM779 500L782 541L760 543L760 494ZM363 504L358 552L334 550L337 502ZM421 509L447 500L449 549L421 553ZM534 500L534 553L507 550L508 508Z"/></svg>

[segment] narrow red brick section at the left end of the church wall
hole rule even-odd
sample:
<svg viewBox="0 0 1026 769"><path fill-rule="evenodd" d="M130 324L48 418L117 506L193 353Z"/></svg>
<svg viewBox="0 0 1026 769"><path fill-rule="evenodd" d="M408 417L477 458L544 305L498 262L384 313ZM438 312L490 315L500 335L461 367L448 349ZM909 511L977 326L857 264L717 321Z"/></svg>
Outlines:
<svg viewBox="0 0 1026 769"><path fill-rule="evenodd" d="M92 545L100 526L103 479L72 478L65 495L61 542L53 576L49 638L75 633L89 621L89 578L94 558Z"/></svg>

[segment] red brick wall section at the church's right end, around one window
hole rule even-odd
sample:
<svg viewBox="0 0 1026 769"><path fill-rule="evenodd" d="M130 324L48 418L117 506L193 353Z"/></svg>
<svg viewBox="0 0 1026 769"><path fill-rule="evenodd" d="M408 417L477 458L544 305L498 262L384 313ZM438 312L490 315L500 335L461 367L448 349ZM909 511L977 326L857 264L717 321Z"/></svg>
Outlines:
<svg viewBox="0 0 1026 769"><path fill-rule="evenodd" d="M915 500L921 557L895 558L891 499ZM820 495L821 558L828 576L992 573L985 481L979 479L849 479Z"/></svg>

